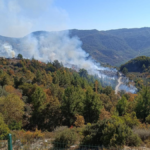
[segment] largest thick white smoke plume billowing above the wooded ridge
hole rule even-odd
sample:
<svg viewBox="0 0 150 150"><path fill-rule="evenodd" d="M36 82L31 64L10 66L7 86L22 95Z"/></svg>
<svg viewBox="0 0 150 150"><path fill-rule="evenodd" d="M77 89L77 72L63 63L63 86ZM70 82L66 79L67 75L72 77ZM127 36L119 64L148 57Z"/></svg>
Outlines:
<svg viewBox="0 0 150 150"><path fill-rule="evenodd" d="M38 36L38 39L31 34L22 38L15 52L21 53L25 58L31 59L34 56L43 62L58 60L67 67L76 65L78 68L86 69L90 74L108 69L89 58L89 54L81 48L81 44L77 37L70 38L68 31L49 32Z"/></svg>

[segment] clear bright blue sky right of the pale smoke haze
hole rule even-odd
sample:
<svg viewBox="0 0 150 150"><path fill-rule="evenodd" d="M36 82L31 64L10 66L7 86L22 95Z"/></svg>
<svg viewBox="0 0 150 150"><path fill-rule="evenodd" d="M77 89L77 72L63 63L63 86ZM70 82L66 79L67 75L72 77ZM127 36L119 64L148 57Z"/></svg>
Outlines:
<svg viewBox="0 0 150 150"><path fill-rule="evenodd" d="M56 0L69 17L68 28L150 27L150 0Z"/></svg>

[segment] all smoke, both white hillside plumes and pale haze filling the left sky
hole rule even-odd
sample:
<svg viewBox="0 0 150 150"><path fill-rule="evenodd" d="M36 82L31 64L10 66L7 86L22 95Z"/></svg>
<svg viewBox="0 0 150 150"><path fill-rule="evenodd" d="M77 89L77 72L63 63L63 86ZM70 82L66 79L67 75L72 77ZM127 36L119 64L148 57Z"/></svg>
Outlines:
<svg viewBox="0 0 150 150"><path fill-rule="evenodd" d="M7 1L7 3L6 3ZM21 37L35 30L60 30L64 28L67 14L52 5L52 0L1 0L0 1L0 34L10 37ZM48 9L49 8L49 9ZM4 15L5 14L5 17ZM49 14L49 16L47 15ZM42 28L41 28L42 27ZM0 43L0 55L16 57L19 53L24 58L34 57L43 62L58 60L64 66L76 65L84 68L89 74L97 75L103 81L117 80L117 76L107 76L102 70L117 74L115 69L104 68L89 57L82 48L77 37L69 37L68 31L49 32L48 34L30 34L20 38L17 47ZM122 89L135 92L124 84Z"/></svg>

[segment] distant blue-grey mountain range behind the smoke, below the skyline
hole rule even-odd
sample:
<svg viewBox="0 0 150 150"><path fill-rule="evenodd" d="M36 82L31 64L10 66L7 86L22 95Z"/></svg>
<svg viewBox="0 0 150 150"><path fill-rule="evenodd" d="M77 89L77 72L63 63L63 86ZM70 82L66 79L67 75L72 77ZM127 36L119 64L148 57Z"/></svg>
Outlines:
<svg viewBox="0 0 150 150"><path fill-rule="evenodd" d="M98 62L119 66L137 56L150 56L150 28L69 31L70 37L78 36L82 48ZM31 34L38 38L49 32L37 31ZM0 36L0 43L8 42L14 48L21 40Z"/></svg>

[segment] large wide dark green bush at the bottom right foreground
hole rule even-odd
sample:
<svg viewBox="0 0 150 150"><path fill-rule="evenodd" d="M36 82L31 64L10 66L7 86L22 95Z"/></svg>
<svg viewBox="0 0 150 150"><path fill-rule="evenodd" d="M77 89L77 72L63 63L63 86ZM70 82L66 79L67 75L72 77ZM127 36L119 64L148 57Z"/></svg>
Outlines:
<svg viewBox="0 0 150 150"><path fill-rule="evenodd" d="M83 135L82 144L85 145L138 146L141 143L140 138L133 133L131 128L115 118L99 121L91 127L87 126Z"/></svg>

